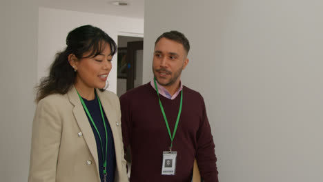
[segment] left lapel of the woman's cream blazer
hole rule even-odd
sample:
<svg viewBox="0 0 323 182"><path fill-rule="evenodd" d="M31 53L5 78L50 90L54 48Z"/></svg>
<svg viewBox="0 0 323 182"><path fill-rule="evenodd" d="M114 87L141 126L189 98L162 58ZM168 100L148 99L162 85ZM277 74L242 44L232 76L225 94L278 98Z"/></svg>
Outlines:
<svg viewBox="0 0 323 182"><path fill-rule="evenodd" d="M86 116L86 112L84 111L83 105L79 100L79 95L77 94L74 86L70 89L70 91L68 91L68 98L70 99L72 105L74 105L72 112L77 121L77 124L79 125L79 128L83 133L86 144L88 145L88 149L90 150L93 159L95 160L95 163L97 165L97 172L99 173L99 159L97 156L97 144L95 141L95 136L93 134L90 122L88 121L88 117Z"/></svg>

